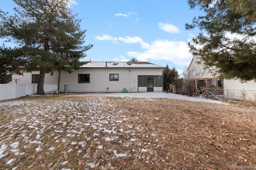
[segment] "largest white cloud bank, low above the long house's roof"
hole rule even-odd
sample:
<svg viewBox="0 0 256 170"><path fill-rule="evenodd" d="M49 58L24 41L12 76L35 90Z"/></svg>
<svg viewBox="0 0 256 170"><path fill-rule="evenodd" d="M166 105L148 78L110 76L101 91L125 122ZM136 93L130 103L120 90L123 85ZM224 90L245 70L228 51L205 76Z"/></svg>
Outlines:
<svg viewBox="0 0 256 170"><path fill-rule="evenodd" d="M192 54L189 53L187 42L170 41L170 40L156 40L151 44L144 42L138 36L124 36L112 37L109 35L94 36L96 40L112 40L113 43L123 42L126 44L139 43L141 49L144 51L128 51L126 54L129 58L135 57L138 61L151 60L167 60L173 62L175 65L188 66L192 60ZM127 59L120 55L114 58L114 61L127 61Z"/></svg>

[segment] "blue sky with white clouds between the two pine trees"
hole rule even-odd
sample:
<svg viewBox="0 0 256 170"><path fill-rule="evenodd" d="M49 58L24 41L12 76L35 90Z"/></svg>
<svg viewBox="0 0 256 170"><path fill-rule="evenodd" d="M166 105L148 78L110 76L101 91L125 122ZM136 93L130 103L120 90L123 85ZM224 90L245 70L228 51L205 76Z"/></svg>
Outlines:
<svg viewBox="0 0 256 170"><path fill-rule="evenodd" d="M0 0L0 9L13 14L16 4ZM82 19L88 61L148 61L175 67L179 73L192 60L187 43L198 30L185 30L194 16L186 0L74 0L71 9ZM2 45L2 40L1 40Z"/></svg>

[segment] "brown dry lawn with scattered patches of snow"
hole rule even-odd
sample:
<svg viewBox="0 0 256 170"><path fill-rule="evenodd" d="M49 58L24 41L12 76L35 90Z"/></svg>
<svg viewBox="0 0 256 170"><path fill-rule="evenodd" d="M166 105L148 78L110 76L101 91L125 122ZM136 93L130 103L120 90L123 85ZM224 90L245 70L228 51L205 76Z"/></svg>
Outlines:
<svg viewBox="0 0 256 170"><path fill-rule="evenodd" d="M256 169L256 109L73 94L0 101L0 169Z"/></svg>

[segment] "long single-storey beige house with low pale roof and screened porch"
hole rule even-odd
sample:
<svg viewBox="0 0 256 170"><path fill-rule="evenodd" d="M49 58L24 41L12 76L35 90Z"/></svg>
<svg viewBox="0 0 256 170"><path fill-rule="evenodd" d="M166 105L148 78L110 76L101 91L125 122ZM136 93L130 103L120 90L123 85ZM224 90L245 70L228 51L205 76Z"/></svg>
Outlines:
<svg viewBox="0 0 256 170"><path fill-rule="evenodd" d="M72 73L46 74L44 83L58 84L60 92L68 85L68 93L122 92L124 88L128 92L163 91L163 70L148 62L90 62ZM10 77L10 83L37 83L39 72Z"/></svg>

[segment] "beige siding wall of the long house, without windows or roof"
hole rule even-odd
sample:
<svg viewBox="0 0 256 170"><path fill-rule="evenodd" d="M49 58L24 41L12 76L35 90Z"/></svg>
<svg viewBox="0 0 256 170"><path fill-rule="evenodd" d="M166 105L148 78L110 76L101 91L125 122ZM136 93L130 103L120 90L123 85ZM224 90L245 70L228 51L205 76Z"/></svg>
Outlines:
<svg viewBox="0 0 256 170"><path fill-rule="evenodd" d="M129 72L130 71L130 72ZM90 74L90 83L78 83L78 74ZM119 74L119 81L110 81L109 74ZM128 92L138 92L138 75L162 75L162 69L79 69L72 73L60 73L60 92L64 91L64 85L68 85L68 92L122 92L124 88ZM146 87L139 92L147 91ZM154 88L154 91L162 91L162 87Z"/></svg>

